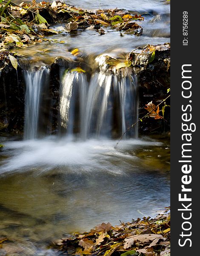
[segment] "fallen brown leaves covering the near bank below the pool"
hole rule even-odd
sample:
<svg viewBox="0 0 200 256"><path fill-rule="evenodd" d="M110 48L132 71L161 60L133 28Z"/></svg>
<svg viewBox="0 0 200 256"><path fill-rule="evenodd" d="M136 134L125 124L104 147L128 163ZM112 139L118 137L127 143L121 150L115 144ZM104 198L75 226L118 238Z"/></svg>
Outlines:
<svg viewBox="0 0 200 256"><path fill-rule="evenodd" d="M54 241L53 247L66 255L169 256L170 214L167 211L169 207L157 218L138 218L115 227L102 223L89 233Z"/></svg>

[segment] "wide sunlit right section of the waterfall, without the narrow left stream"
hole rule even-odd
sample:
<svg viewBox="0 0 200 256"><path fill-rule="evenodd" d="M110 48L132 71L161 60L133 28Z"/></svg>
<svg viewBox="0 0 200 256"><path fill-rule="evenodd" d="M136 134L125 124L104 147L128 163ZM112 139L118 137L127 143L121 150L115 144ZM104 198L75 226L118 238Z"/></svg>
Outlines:
<svg viewBox="0 0 200 256"><path fill-rule="evenodd" d="M60 125L66 134L120 137L137 120L137 79L128 69L96 72L87 85L86 75L67 72L60 93ZM129 131L137 137L137 127Z"/></svg>

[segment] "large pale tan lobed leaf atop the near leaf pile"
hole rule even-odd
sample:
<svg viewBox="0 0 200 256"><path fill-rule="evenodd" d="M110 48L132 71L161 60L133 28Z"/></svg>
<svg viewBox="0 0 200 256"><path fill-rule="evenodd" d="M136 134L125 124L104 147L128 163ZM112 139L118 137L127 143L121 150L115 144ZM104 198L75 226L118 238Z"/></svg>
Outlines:
<svg viewBox="0 0 200 256"><path fill-rule="evenodd" d="M134 242L139 241L142 244L144 244L144 243L149 243L150 241L154 241L154 239L157 239L157 238L165 240L165 238L163 238L162 235L157 235L157 234L143 234L143 235L131 236L130 238L124 239L125 241L124 249L131 247L131 245L134 244Z"/></svg>

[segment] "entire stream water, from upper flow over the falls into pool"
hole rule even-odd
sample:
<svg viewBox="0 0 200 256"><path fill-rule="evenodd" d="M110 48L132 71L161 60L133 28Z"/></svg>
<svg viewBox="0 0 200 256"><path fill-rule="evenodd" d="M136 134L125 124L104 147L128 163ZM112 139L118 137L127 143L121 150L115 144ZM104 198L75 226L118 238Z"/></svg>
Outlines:
<svg viewBox="0 0 200 256"><path fill-rule="evenodd" d="M134 47L169 41L169 4L163 0L69 3L146 13L146 32L120 37L108 29L102 37L95 31L78 31L51 36L66 40L65 44L44 42L17 49L22 61L31 63L23 70L24 137L0 137L4 145L0 236L14 241L10 245L17 248L14 255L56 256L59 253L47 249L53 239L89 231L102 222L115 225L153 217L170 204L169 140L140 137L135 125L115 148L117 139L138 119L137 76L129 68L108 72L100 65L105 53L124 57ZM58 26L62 25L53 28ZM60 69L59 118L52 135L48 64L57 56L73 58L69 49L76 47L99 69L92 66L90 76ZM6 255L5 250L0 249L0 255Z"/></svg>

